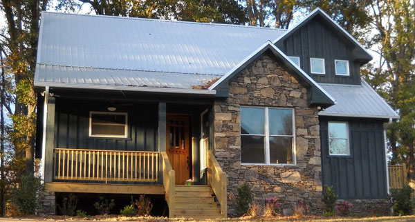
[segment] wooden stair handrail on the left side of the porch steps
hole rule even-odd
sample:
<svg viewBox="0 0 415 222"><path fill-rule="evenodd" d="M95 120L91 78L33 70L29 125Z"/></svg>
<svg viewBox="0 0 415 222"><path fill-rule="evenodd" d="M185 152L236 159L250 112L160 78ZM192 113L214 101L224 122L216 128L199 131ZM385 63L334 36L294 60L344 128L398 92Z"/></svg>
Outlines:
<svg viewBox="0 0 415 222"><path fill-rule="evenodd" d="M165 198L169 206L169 218L174 218L174 188L176 187L176 176L172 165L170 165L167 152L160 152L163 159L163 186L165 188Z"/></svg>

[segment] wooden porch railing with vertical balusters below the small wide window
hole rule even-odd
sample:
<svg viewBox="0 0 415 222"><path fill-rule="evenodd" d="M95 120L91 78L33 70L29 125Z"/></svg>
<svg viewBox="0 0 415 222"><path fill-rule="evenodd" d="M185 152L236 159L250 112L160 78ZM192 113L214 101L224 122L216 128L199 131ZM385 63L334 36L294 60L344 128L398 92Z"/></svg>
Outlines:
<svg viewBox="0 0 415 222"><path fill-rule="evenodd" d="M66 181L157 182L158 152L56 148L53 177Z"/></svg>

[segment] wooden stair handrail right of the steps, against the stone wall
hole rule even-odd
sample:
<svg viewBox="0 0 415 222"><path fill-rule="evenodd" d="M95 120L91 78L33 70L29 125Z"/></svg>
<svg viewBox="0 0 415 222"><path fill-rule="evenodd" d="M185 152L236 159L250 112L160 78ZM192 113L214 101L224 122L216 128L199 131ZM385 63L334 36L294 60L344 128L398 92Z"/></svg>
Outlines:
<svg viewBox="0 0 415 222"><path fill-rule="evenodd" d="M228 217L228 201L226 196L226 173L222 171L221 165L214 157L212 151L208 153L208 184L221 205L221 214Z"/></svg>

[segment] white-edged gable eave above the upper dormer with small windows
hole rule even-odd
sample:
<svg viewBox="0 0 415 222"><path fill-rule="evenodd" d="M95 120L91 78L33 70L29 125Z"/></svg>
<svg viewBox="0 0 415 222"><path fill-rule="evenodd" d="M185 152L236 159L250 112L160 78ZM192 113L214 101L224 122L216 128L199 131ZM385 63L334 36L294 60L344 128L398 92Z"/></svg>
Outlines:
<svg viewBox="0 0 415 222"><path fill-rule="evenodd" d="M288 32L284 32L284 34L277 37L277 39L275 39L273 43L278 44L284 41L284 39L289 37L295 31L302 28L304 25L306 25L306 23L308 23L308 21L311 21L311 19L314 19L316 17L322 18L323 21L326 21L326 24L329 25L333 30L342 34L347 40L349 40L354 46L356 46L356 49L358 50L358 52L355 53L356 59L361 59L363 63L367 63L373 59L369 51L365 47L363 47L362 44L360 44L354 37L351 36L351 34L349 34L349 32L344 30L342 26L340 26L337 22L331 19L331 17L328 14L326 14L326 12L321 10L320 8L315 8L313 12L308 14L304 19L299 21L299 23L297 23L295 26L290 28Z"/></svg>

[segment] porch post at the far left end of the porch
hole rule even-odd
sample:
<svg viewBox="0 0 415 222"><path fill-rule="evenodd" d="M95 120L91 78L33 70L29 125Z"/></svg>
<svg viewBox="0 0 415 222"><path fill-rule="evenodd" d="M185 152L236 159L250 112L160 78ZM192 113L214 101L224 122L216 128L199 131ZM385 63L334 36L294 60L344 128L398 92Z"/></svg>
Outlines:
<svg viewBox="0 0 415 222"><path fill-rule="evenodd" d="M55 148L55 98L48 97L48 112L46 114L46 143L45 143L45 183L52 182L53 179L53 148Z"/></svg>

